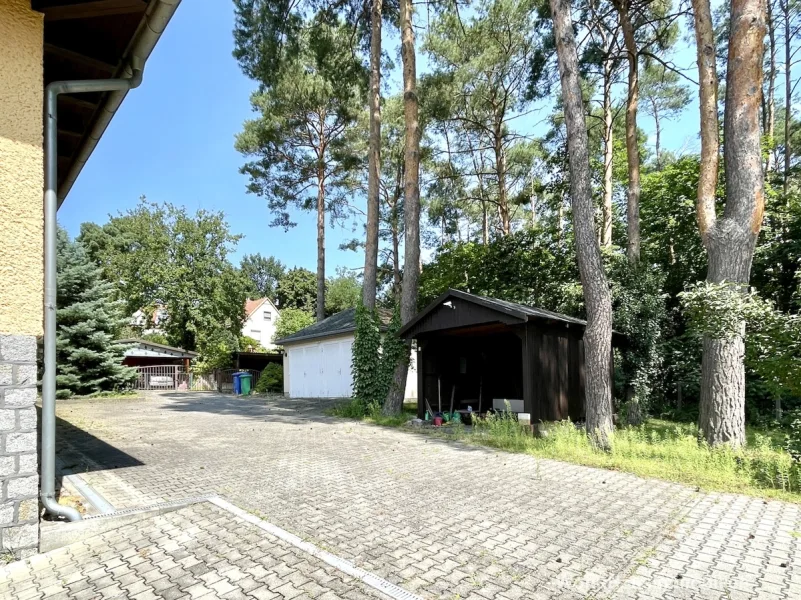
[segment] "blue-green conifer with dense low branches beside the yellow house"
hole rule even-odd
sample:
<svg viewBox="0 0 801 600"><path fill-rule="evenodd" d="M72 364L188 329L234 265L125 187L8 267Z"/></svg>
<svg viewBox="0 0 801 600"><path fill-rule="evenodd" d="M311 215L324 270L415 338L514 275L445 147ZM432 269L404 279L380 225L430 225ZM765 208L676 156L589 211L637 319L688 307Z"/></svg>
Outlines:
<svg viewBox="0 0 801 600"><path fill-rule="evenodd" d="M125 324L120 304L112 300L113 284L83 246L58 231L58 310L56 320L57 397L116 390L130 384L136 371L122 366L125 347L115 332Z"/></svg>

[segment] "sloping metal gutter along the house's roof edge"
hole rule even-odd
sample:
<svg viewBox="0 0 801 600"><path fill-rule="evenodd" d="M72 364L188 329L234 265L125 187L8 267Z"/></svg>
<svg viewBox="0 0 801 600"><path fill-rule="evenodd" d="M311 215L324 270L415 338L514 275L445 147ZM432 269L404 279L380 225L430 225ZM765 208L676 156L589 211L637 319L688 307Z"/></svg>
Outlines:
<svg viewBox="0 0 801 600"><path fill-rule="evenodd" d="M170 19L172 19L180 3L181 0L152 0L150 2L145 16L142 19L142 23L139 25L139 29L131 40L129 50L124 55L128 56L129 59L124 64L122 72L118 74L118 77L129 79L133 76L133 71L130 67L132 62L138 61L141 65L147 62L151 52L153 52L153 48L155 48L156 43L159 41L161 34L164 33L167 24L170 22ZM78 175L80 175L84 165L89 160L92 152L94 152L97 143L100 141L100 138L103 137L103 133L106 131L109 123L111 123L111 119L128 94L127 89L102 91L112 91L112 93L108 95L105 103L100 107L100 114L92 130L87 137L84 138L81 149L75 161L70 166L64 183L58 188L59 207L61 207L61 203L64 202L67 194L70 193L75 180L78 179Z"/></svg>

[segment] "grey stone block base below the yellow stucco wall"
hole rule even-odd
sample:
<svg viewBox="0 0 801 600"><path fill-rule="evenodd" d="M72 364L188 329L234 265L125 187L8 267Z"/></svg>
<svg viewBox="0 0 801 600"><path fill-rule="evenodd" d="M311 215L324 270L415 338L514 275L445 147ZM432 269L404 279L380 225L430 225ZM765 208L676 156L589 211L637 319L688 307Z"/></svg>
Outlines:
<svg viewBox="0 0 801 600"><path fill-rule="evenodd" d="M39 546L36 337L0 334L0 554Z"/></svg>

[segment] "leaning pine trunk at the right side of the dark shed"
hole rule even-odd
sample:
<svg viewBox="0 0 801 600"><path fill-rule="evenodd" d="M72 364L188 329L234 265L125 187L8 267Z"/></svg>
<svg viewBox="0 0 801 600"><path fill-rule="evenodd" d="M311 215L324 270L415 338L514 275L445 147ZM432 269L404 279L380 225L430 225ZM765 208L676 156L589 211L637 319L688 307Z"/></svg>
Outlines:
<svg viewBox="0 0 801 600"><path fill-rule="evenodd" d="M595 207L590 181L587 125L581 98L570 2L550 0L550 3L567 124L576 254L587 306L587 328L584 331L587 433L594 444L608 448L613 428L610 369L612 301L601 260L601 249L595 239Z"/></svg>

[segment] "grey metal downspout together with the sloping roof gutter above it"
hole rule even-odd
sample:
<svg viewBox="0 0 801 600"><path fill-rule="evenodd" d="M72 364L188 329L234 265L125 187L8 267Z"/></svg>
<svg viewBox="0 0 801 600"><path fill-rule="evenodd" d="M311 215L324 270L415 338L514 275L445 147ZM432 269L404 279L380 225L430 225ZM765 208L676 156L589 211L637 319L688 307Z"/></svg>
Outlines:
<svg viewBox="0 0 801 600"><path fill-rule="evenodd" d="M86 92L113 92L103 113L89 134L75 164L62 186L62 198L72 187L92 150L128 90L142 82L142 70L181 0L152 0L144 24L136 33L128 53L124 79L54 81L45 88L44 126L44 375L42 376L41 488L39 497L45 510L68 521L80 521L74 508L56 500L56 215L58 190L58 96Z"/></svg>

